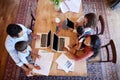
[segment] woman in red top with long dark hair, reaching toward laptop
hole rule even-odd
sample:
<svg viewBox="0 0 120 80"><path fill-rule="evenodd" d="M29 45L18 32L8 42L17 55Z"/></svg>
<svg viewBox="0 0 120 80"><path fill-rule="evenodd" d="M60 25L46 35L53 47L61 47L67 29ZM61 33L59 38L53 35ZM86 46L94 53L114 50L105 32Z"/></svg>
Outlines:
<svg viewBox="0 0 120 80"><path fill-rule="evenodd" d="M86 35L78 40L77 44L72 44L64 48L75 60L85 60L97 56L100 49L100 39L97 35Z"/></svg>

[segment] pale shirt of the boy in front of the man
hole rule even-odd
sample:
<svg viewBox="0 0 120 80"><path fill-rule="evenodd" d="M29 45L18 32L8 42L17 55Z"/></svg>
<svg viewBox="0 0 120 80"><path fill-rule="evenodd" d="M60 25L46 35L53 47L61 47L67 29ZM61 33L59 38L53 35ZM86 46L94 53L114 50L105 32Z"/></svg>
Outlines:
<svg viewBox="0 0 120 80"><path fill-rule="evenodd" d="M30 46L27 47L27 50L25 53L18 51L18 57L24 64L28 64L28 60L26 59L26 57L30 55L30 51L31 51Z"/></svg>

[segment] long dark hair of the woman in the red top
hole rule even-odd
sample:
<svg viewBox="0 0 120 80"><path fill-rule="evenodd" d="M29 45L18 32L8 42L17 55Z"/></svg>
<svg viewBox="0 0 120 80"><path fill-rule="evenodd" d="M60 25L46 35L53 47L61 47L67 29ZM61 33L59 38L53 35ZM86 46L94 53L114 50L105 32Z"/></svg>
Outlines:
<svg viewBox="0 0 120 80"><path fill-rule="evenodd" d="M91 35L91 46L94 52L91 57L96 57L101 46L100 38L97 35Z"/></svg>

